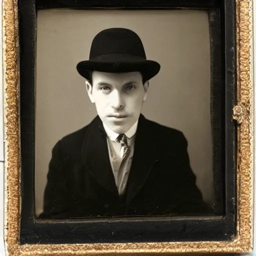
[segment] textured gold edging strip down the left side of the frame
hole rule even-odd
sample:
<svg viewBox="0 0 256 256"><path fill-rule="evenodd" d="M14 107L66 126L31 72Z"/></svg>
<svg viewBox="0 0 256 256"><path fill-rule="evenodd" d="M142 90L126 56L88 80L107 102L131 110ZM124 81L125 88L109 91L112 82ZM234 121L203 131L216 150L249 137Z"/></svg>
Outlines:
<svg viewBox="0 0 256 256"><path fill-rule="evenodd" d="M3 87L5 124L5 183L4 233L9 255L17 255L20 246L20 178L19 178L19 80L18 80L18 18L17 2L3 0Z"/></svg>

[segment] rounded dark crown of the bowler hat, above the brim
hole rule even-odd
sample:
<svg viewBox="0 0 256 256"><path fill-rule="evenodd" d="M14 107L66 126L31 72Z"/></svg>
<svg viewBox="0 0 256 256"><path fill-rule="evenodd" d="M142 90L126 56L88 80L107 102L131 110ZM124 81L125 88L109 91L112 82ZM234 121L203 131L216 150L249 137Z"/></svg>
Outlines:
<svg viewBox="0 0 256 256"><path fill-rule="evenodd" d="M108 28L95 35L90 47L90 59L116 53L146 58L141 39L130 29Z"/></svg>

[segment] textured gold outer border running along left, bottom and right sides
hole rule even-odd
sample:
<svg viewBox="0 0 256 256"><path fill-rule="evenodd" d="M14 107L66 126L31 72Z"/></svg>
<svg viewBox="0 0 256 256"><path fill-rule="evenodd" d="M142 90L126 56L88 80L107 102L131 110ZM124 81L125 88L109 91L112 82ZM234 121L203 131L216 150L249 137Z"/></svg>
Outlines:
<svg viewBox="0 0 256 256"><path fill-rule="evenodd" d="M192 252L246 253L252 250L252 0L236 0L237 101L237 235L232 241L94 244L19 244L20 144L17 0L3 0L3 86L5 120L4 209L6 254L115 255Z"/></svg>

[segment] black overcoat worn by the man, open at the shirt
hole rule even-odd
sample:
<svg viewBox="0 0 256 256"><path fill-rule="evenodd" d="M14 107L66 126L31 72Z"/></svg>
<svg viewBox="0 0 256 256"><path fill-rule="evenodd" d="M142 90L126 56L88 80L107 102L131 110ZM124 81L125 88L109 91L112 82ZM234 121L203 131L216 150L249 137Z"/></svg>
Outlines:
<svg viewBox="0 0 256 256"><path fill-rule="evenodd" d="M96 116L53 147L40 217L208 214L195 180L183 133L141 114L126 190L119 196Z"/></svg>

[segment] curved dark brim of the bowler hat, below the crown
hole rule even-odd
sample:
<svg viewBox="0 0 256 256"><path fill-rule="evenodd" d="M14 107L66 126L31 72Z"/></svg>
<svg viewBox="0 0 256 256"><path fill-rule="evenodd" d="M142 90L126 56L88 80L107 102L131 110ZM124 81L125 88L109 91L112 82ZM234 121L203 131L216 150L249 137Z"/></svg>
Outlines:
<svg viewBox="0 0 256 256"><path fill-rule="evenodd" d="M154 60L147 60L128 54L105 54L90 60L80 61L76 65L78 73L89 79L91 71L124 73L138 71L143 80L149 80L160 70L160 64Z"/></svg>

